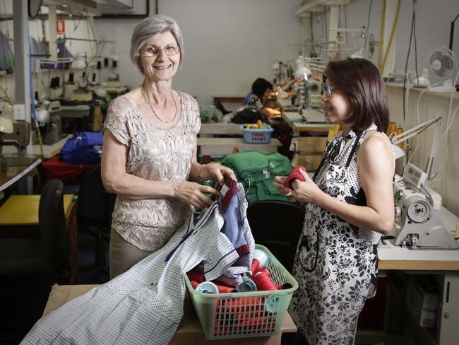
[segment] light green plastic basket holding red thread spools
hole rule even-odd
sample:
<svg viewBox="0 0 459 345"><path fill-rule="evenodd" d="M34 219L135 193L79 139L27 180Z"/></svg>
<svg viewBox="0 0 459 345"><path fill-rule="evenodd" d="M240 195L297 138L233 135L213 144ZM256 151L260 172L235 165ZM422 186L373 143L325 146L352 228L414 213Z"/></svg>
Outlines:
<svg viewBox="0 0 459 345"><path fill-rule="evenodd" d="M256 245L269 259L267 269L276 285L290 283L291 288L277 291L237 293L200 293L184 275L205 338L234 339L266 337L279 334L282 322L298 283L263 245Z"/></svg>

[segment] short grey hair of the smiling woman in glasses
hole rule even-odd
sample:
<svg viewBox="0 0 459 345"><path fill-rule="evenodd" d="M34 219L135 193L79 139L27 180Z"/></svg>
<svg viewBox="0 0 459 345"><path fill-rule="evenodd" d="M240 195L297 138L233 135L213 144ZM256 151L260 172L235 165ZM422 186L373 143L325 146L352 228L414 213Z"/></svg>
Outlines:
<svg viewBox="0 0 459 345"><path fill-rule="evenodd" d="M155 14L154 16L147 17L143 19L140 23L134 28L132 37L131 37L131 61L136 67L136 70L143 74L143 69L141 65L141 48L145 45L145 42L151 37L158 33L166 33L170 31L174 35L175 40L177 40L177 45L180 47L180 62L184 59L184 37L181 35L181 30L179 24L168 16L162 14Z"/></svg>

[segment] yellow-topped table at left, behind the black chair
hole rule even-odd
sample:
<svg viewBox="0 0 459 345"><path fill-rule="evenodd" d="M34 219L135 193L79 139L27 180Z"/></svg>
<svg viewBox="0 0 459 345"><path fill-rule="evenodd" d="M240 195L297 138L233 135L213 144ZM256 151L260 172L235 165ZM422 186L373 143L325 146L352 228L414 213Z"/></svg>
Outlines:
<svg viewBox="0 0 459 345"><path fill-rule="evenodd" d="M40 195L11 195L0 207L0 238L40 239L38 206ZM64 212L70 236L70 263L72 284L78 281L78 228L76 203L73 194L64 194Z"/></svg>

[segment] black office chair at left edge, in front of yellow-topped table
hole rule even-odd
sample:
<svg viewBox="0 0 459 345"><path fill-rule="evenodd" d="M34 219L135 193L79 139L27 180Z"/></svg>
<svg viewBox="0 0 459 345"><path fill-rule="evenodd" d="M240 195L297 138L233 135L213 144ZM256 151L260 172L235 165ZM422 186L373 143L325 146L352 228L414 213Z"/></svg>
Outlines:
<svg viewBox="0 0 459 345"><path fill-rule="evenodd" d="M68 284L70 238L64 185L44 185L38 207L40 239L0 239L0 344L18 344L42 315L54 283Z"/></svg>

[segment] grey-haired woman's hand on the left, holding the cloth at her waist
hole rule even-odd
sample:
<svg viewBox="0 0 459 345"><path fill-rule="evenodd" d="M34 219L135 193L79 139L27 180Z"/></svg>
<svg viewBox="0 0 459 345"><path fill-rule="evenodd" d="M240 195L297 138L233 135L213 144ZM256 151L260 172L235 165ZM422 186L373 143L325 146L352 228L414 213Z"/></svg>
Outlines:
<svg viewBox="0 0 459 345"><path fill-rule="evenodd" d="M174 197L185 201L188 204L196 207L196 209L205 209L205 207L213 204L213 201L209 199L204 193L214 194L215 197L220 194L217 189L212 187L199 185L196 182L177 182L174 185Z"/></svg>

